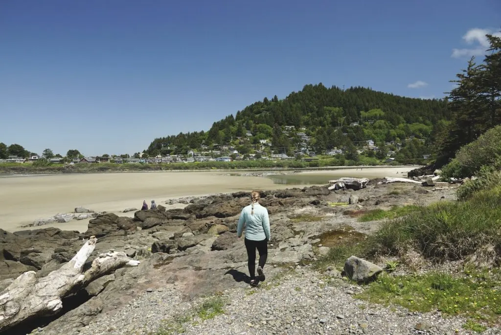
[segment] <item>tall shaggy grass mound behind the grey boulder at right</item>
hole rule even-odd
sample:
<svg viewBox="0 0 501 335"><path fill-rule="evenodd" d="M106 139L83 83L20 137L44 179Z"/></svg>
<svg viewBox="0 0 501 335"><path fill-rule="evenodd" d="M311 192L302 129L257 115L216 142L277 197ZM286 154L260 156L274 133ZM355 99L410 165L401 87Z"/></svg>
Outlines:
<svg viewBox="0 0 501 335"><path fill-rule="evenodd" d="M469 259L498 264L501 255L501 186L475 193L465 202L418 207L383 224L369 238L370 253L401 255L414 247L435 260Z"/></svg>

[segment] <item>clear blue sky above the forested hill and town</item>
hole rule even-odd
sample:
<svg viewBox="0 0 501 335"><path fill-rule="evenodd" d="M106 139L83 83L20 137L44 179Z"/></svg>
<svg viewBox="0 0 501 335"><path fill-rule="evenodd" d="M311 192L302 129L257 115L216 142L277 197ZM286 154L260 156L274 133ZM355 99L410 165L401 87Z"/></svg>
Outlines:
<svg viewBox="0 0 501 335"><path fill-rule="evenodd" d="M498 0L3 0L0 142L133 153L309 83L439 98L500 26Z"/></svg>

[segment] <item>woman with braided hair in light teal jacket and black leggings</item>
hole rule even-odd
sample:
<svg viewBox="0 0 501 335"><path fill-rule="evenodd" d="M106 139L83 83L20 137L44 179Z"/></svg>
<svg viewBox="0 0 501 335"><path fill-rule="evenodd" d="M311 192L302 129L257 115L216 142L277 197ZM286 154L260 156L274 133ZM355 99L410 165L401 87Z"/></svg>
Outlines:
<svg viewBox="0 0 501 335"><path fill-rule="evenodd" d="M268 258L268 242L270 241L270 218L266 207L259 204L260 198L259 191L250 193L251 204L242 209L236 229L236 235L240 238L245 225L244 243L247 249L247 266L252 286L257 286L260 280L265 280L263 268ZM256 279L256 249L259 252L259 280Z"/></svg>

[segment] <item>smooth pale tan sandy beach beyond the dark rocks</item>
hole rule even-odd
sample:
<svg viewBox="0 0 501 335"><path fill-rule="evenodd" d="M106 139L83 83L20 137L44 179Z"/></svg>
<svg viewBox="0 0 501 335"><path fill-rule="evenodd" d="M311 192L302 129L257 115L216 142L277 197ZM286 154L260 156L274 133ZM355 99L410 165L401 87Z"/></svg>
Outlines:
<svg viewBox="0 0 501 335"><path fill-rule="evenodd" d="M363 168L332 171L308 171L296 175L325 175L343 177L403 176L406 168ZM319 184L325 184L323 181ZM306 183L305 183L306 184ZM311 183L310 183L311 184ZM228 176L220 172L154 172L109 173L76 175L8 176L0 178L0 228L17 231L37 218L48 218L57 213L71 213L75 207L94 211L121 213L127 207L140 208L143 200L157 204L184 196L215 193L273 190L302 185L277 185L263 177ZM58 227L63 230L85 231L89 220L72 220L34 228Z"/></svg>

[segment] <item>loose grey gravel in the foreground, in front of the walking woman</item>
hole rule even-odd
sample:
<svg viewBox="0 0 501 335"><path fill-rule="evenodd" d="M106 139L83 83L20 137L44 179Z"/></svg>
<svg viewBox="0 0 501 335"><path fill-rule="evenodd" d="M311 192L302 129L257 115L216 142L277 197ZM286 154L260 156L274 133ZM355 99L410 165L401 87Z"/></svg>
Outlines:
<svg viewBox="0 0 501 335"><path fill-rule="evenodd" d="M461 317L411 313L355 299L362 288L328 279L308 267L284 272L259 288L221 292L224 313L201 320L193 311L203 299L181 300L176 286L145 292L115 315L105 316L79 332L97 334L472 334ZM195 315L187 319L183 316ZM181 317L180 317L181 316ZM421 330L419 328L421 326ZM163 329L163 330L162 330ZM457 329L457 330L456 330ZM174 331L173 331L174 330ZM501 334L491 328L484 334Z"/></svg>

